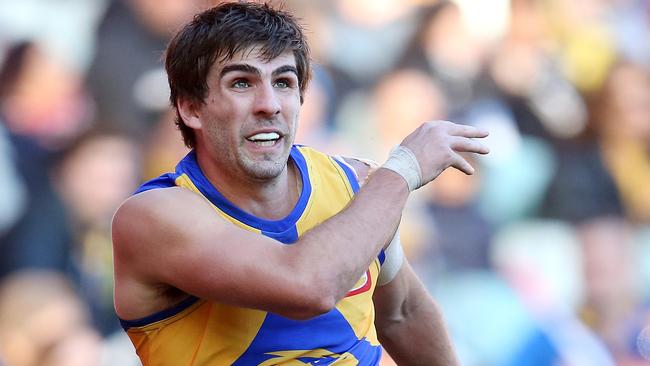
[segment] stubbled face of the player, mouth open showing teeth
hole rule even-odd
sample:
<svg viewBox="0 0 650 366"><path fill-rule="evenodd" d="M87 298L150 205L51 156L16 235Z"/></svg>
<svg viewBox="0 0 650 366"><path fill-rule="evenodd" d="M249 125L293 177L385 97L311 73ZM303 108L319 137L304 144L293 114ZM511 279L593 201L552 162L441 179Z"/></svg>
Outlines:
<svg viewBox="0 0 650 366"><path fill-rule="evenodd" d="M208 75L209 94L197 112L203 144L222 172L255 180L285 169L300 111L296 62L291 52L263 60L255 48Z"/></svg>

